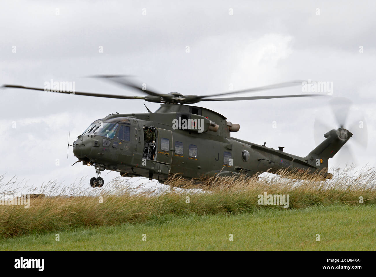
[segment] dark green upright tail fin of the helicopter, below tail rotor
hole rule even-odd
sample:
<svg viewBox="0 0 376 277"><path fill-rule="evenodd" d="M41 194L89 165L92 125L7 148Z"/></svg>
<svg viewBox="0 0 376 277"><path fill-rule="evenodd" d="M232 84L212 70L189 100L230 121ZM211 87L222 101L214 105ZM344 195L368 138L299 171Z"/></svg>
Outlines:
<svg viewBox="0 0 376 277"><path fill-rule="evenodd" d="M352 135L352 133L343 128L327 132L324 134L326 140L313 149L305 157L305 160L318 169L326 167L327 170L329 158L333 158Z"/></svg>

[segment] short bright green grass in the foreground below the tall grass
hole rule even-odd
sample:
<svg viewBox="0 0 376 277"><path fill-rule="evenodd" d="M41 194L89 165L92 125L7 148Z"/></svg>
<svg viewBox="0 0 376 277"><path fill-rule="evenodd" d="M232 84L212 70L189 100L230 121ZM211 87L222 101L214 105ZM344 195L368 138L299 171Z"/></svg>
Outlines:
<svg viewBox="0 0 376 277"><path fill-rule="evenodd" d="M2 238L0 250L376 250L375 215L374 204L170 214L146 223L63 231L59 241L56 233Z"/></svg>

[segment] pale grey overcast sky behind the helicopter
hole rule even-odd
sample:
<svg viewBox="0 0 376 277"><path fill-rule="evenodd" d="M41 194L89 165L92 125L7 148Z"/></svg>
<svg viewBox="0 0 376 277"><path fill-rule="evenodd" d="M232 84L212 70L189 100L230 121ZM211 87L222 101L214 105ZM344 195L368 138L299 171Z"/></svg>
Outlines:
<svg viewBox="0 0 376 277"><path fill-rule="evenodd" d="M200 95L295 79L332 82L332 97L353 102L345 127L364 117L368 129L367 148L347 143L354 155L349 162L375 166L375 10L374 1L2 1L0 84L43 88L53 79L75 82L77 91L138 95L86 78L126 74L162 93ZM297 86L252 95L299 93ZM77 159L72 148L67 158L69 132L72 143L110 113L146 112L142 100L9 88L0 94L0 175L35 186L81 177L89 186L94 167L71 166ZM329 99L196 105L239 123L233 137L304 157L317 145L316 117L329 126L322 134L339 127ZM346 163L341 151L329 167L340 163ZM117 176L110 172L105 182Z"/></svg>

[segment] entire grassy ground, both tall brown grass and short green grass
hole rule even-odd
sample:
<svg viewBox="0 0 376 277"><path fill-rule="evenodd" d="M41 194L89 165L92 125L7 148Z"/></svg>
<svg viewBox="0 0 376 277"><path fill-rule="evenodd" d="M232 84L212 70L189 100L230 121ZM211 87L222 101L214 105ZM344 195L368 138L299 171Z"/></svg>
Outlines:
<svg viewBox="0 0 376 277"><path fill-rule="evenodd" d="M28 207L0 199L0 250L375 250L376 170L330 181L280 174L287 178L175 176L163 191L136 192L119 178L110 190ZM260 202L264 195L288 203Z"/></svg>

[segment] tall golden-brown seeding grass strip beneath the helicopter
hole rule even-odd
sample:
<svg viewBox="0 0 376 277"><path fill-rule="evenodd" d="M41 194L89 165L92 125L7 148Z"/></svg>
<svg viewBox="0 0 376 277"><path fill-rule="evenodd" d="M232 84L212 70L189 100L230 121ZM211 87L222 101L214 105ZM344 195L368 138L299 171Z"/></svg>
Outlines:
<svg viewBox="0 0 376 277"><path fill-rule="evenodd" d="M169 186L162 190L159 187L158 191L157 187L131 189L124 179L116 178L109 190L90 188L78 193L66 190L65 195L76 196L30 199L29 208L0 205L0 238L125 222L142 223L171 215L239 214L265 208L284 209L282 205L259 205L258 195L264 192L288 194L288 209L375 204L376 170L368 168L357 177L351 177L349 172L337 172L330 181L323 181L318 175L291 172L279 172L284 178L274 175L268 178L222 177L187 181L173 176L168 180ZM2 180L0 178L0 187L9 187L9 182L2 183ZM58 183L53 184L58 186ZM74 187L70 189L74 190ZM46 191L42 186L38 192ZM49 187L47 192L47 195L53 195L54 187ZM359 202L360 198L363 203Z"/></svg>

